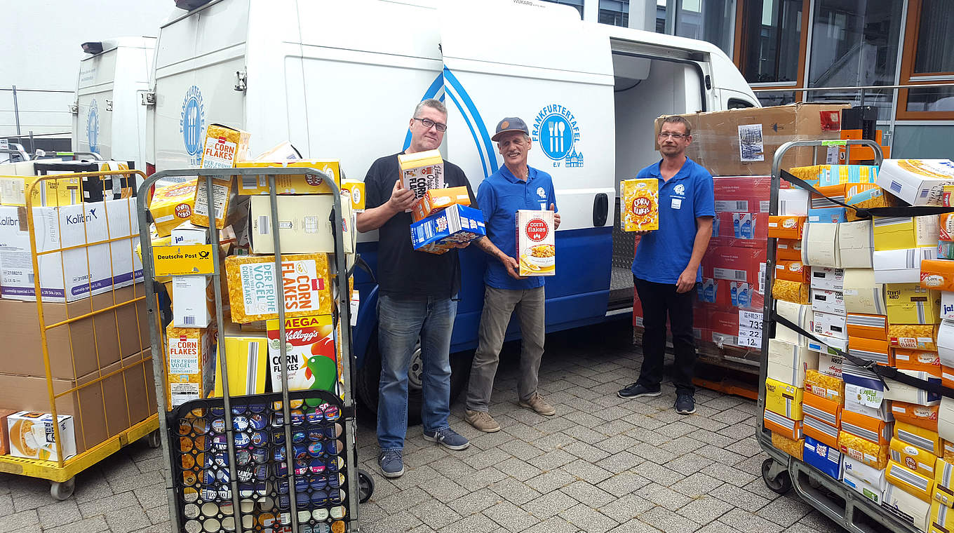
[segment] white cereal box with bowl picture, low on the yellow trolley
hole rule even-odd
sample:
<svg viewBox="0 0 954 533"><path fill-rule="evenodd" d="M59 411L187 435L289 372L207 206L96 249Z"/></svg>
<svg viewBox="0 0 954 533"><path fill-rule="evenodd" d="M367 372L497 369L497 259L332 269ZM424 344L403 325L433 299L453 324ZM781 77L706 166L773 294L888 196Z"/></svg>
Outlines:
<svg viewBox="0 0 954 533"><path fill-rule="evenodd" d="M50 413L21 411L7 417L10 431L10 455L41 461L58 461L59 452L63 459L76 455L76 434L73 430L73 417L57 415L56 421ZM59 426L60 445L56 445L53 426Z"/></svg>

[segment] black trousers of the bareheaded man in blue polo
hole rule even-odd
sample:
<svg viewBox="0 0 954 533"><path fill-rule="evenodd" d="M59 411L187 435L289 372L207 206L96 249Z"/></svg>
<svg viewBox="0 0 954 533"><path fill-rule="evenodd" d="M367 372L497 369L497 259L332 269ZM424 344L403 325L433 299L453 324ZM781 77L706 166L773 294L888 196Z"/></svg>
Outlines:
<svg viewBox="0 0 954 533"><path fill-rule="evenodd" d="M676 394L695 394L695 337L693 336L693 301L695 286L686 293L676 293L675 285L654 283L633 277L636 294L643 306L643 366L637 383L659 390L666 355L666 315L673 331L675 365L673 384Z"/></svg>

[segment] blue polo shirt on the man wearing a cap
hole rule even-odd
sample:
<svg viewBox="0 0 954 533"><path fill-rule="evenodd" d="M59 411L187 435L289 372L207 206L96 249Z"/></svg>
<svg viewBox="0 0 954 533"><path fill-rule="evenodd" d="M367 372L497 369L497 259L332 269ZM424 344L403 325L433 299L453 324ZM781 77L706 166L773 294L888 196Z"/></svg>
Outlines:
<svg viewBox="0 0 954 533"><path fill-rule="evenodd" d="M556 205L550 174L528 167L527 181L513 175L506 165L490 174L477 189L477 205L484 213L487 237L508 256L517 257L517 211L540 211ZM541 276L514 279L496 258L487 261L484 282L495 289L535 289L542 287Z"/></svg>

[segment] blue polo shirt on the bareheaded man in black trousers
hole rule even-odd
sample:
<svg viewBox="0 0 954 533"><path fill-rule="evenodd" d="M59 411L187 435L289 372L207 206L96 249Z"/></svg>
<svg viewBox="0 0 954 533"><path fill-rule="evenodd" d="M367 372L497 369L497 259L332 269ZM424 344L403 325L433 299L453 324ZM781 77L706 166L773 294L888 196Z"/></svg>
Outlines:
<svg viewBox="0 0 954 533"><path fill-rule="evenodd" d="M692 159L687 157L669 181L663 181L659 173L661 162L636 174L659 180L659 229L639 240L633 276L674 285L693 256L695 217L716 216L716 196L712 174ZM701 265L695 281L702 281Z"/></svg>

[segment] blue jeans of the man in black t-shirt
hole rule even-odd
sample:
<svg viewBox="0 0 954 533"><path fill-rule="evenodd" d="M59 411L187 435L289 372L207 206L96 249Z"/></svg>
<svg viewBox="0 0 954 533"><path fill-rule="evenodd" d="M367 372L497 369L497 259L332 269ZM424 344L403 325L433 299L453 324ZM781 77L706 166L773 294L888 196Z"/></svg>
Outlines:
<svg viewBox="0 0 954 533"><path fill-rule="evenodd" d="M378 298L378 444L382 451L403 450L407 433L407 370L421 338L424 430L450 427L450 334L457 301L450 298Z"/></svg>

